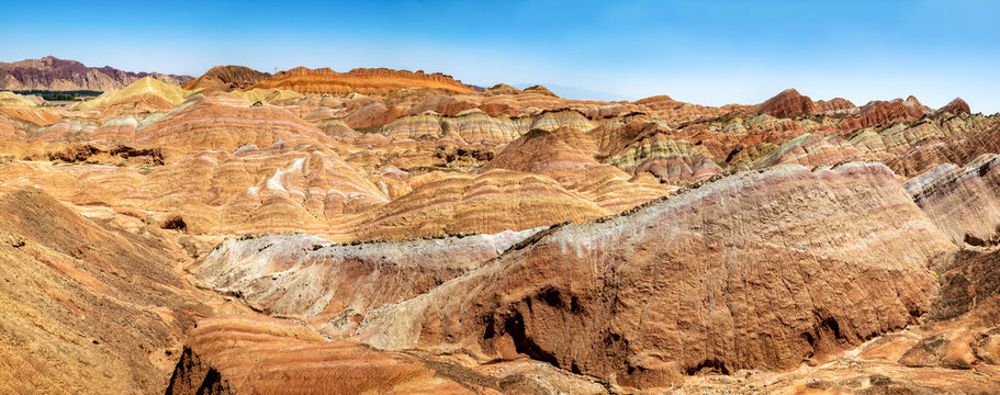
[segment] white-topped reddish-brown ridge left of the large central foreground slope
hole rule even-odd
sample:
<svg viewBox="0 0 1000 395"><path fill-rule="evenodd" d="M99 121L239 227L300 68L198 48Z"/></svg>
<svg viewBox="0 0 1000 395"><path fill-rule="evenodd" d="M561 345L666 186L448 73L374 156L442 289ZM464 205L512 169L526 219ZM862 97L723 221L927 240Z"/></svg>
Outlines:
<svg viewBox="0 0 1000 395"><path fill-rule="evenodd" d="M476 269L535 232L344 245L305 235L228 239L191 271L272 316L350 324Z"/></svg>

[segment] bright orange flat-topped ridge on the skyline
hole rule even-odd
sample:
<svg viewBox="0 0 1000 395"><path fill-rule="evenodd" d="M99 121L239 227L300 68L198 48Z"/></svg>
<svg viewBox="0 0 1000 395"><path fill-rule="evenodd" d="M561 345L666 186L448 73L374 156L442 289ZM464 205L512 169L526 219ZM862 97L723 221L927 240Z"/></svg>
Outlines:
<svg viewBox="0 0 1000 395"><path fill-rule="evenodd" d="M452 93L473 91L472 88L461 81L440 72L425 74L424 71L412 72L384 68L353 69L348 72L337 72L328 68L307 69L305 67L296 67L288 71L280 71L266 80L255 83L252 88L279 88L301 93L338 95L351 92L384 95L394 90L405 88L436 88Z"/></svg>

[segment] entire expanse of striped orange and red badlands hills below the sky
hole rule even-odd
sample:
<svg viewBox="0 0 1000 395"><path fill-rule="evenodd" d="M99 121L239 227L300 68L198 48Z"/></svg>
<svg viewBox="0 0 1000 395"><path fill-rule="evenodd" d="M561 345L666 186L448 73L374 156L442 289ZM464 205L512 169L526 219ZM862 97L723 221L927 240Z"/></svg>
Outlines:
<svg viewBox="0 0 1000 395"><path fill-rule="evenodd" d="M5 94L0 393L1000 392L1000 115L960 99Z"/></svg>

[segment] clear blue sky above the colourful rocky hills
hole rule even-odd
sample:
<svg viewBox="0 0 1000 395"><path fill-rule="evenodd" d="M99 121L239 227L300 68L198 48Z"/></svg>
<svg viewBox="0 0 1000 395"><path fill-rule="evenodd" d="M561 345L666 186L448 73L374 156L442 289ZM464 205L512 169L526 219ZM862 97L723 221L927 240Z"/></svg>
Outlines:
<svg viewBox="0 0 1000 395"><path fill-rule="evenodd" d="M578 99L962 97L1000 112L1000 1L8 1L0 61L441 71Z"/></svg>

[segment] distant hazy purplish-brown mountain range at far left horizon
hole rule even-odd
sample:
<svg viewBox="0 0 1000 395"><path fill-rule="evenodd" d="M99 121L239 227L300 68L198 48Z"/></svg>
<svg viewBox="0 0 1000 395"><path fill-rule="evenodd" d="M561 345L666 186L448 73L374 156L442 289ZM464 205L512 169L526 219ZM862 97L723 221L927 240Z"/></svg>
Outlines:
<svg viewBox="0 0 1000 395"><path fill-rule="evenodd" d="M144 77L176 86L193 79L190 76L122 71L110 66L87 67L79 61L54 56L0 63L0 90L108 91L125 88Z"/></svg>

